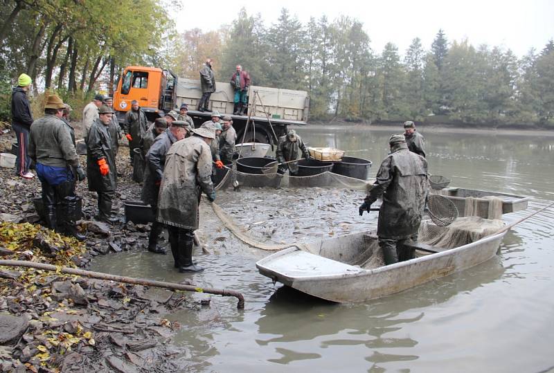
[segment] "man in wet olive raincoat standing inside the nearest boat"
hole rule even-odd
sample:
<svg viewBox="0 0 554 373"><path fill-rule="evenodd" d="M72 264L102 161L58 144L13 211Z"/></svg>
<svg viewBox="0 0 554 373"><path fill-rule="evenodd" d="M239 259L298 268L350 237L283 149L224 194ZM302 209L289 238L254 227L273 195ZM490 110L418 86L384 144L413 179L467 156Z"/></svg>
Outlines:
<svg viewBox="0 0 554 373"><path fill-rule="evenodd" d="M371 204L378 198L383 199L377 237L386 265L413 258L413 251L403 244L418 239L429 190L425 158L409 151L404 135L391 136L388 144L391 153L381 163L375 183L359 207L361 216L364 211L369 213Z"/></svg>

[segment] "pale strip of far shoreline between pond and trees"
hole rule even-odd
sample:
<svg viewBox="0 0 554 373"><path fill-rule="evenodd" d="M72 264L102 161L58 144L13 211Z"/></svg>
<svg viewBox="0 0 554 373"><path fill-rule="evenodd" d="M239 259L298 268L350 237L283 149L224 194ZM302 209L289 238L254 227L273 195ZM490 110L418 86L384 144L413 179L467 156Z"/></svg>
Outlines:
<svg viewBox="0 0 554 373"><path fill-rule="evenodd" d="M304 126L302 126L304 127ZM310 129L369 129L371 131L391 131L401 133L404 131L402 123L398 125L379 125L379 124L364 124L364 123L328 123L323 122L308 122L305 128ZM474 128L474 127L459 127L454 125L418 125L416 127L422 134L425 132L434 133L452 133L452 134L488 134L497 136L548 136L554 137L554 129L519 129L519 128Z"/></svg>

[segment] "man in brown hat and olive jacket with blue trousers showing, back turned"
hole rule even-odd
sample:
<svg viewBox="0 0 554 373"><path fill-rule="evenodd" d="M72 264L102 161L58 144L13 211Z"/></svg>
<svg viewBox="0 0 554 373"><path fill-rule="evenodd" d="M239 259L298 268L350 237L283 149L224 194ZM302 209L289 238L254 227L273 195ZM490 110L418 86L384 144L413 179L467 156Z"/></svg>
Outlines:
<svg viewBox="0 0 554 373"><path fill-rule="evenodd" d="M84 180L71 127L63 120L66 104L57 95L48 95L44 116L33 122L29 134L29 156L37 165L42 185L46 226L82 241L75 226L78 199L75 181Z"/></svg>

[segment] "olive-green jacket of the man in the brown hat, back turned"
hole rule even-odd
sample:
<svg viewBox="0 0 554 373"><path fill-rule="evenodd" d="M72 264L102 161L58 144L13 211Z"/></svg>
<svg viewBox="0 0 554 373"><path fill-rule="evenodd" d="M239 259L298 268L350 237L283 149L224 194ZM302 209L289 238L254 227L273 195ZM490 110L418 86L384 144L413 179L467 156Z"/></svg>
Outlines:
<svg viewBox="0 0 554 373"><path fill-rule="evenodd" d="M79 156L68 127L62 119L48 114L35 120L30 126L30 158L47 166L77 166Z"/></svg>

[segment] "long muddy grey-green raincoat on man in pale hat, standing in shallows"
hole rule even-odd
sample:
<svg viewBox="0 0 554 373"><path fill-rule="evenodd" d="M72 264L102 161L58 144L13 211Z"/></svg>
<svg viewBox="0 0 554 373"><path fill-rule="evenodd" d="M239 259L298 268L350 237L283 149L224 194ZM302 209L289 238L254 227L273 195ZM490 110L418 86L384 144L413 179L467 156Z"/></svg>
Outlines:
<svg viewBox="0 0 554 373"><path fill-rule="evenodd" d="M157 221L198 229L200 194L213 193L211 174L211 150L201 136L193 135L173 144L163 169Z"/></svg>

